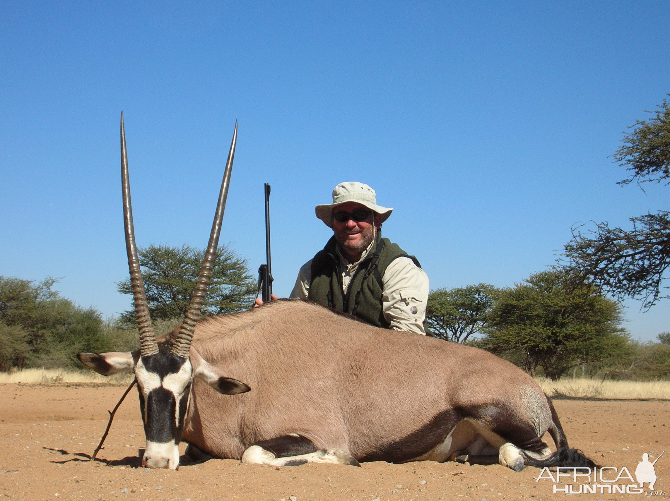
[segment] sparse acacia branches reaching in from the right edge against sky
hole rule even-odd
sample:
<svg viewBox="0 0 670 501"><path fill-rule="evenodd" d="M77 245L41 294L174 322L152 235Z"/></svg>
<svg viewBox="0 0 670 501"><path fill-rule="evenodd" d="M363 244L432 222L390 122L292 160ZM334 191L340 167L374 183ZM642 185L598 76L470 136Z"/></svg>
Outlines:
<svg viewBox="0 0 670 501"><path fill-rule="evenodd" d="M668 94L670 96L670 94ZM612 155L630 176L618 182L670 184L670 102L663 100L649 121L636 121L632 133ZM630 218L632 229L596 223L592 230L573 228L565 245L568 266L617 299L641 299L649 309L662 297L670 267L670 212L659 210Z"/></svg>

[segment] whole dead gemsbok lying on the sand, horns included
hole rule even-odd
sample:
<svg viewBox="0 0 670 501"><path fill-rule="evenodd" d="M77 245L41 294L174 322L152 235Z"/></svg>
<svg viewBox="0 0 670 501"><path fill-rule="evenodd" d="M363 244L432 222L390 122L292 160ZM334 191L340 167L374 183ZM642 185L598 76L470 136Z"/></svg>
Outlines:
<svg viewBox="0 0 670 501"><path fill-rule="evenodd" d="M216 255L237 123L198 285L182 326L157 341L137 259L121 115L125 235L141 348L79 354L100 374L134 372L143 466L187 456L293 466L308 461L455 460L594 466L569 449L528 374L488 352L384 330L302 300L199 319ZM557 451L542 441L549 431Z"/></svg>

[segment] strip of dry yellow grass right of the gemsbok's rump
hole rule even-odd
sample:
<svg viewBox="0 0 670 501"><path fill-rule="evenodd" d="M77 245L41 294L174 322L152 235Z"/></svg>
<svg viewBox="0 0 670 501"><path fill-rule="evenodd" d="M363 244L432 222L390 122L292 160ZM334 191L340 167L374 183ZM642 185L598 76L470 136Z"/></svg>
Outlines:
<svg viewBox="0 0 670 501"><path fill-rule="evenodd" d="M670 381L609 381L537 378L549 397L596 397L600 399L670 399Z"/></svg>

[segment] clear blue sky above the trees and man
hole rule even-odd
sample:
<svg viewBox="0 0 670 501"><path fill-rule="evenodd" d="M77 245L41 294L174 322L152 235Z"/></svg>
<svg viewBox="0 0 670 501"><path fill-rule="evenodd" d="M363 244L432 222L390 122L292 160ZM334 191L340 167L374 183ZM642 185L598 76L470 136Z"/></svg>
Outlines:
<svg viewBox="0 0 670 501"><path fill-rule="evenodd" d="M206 244L237 119L222 242L264 261L269 182L280 295L352 180L432 288L513 285L574 224L668 209L608 155L670 92L669 40L664 1L3 1L0 275L129 306L123 110L141 246ZM626 304L635 338L670 330L670 301Z"/></svg>

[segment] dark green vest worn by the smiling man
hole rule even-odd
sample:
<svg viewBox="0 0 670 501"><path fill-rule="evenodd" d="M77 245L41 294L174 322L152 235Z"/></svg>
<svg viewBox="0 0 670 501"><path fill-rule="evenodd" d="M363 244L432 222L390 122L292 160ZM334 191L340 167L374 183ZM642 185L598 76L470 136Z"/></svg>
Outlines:
<svg viewBox="0 0 670 501"><path fill-rule="evenodd" d="M419 261L407 255L397 244L377 234L369 255L358 265L346 295L342 292L340 257L335 251L337 242L332 236L312 259L312 281L308 298L377 327L389 328L384 317L382 277L391 262L399 257L409 257L421 268ZM425 328L425 325L424 325Z"/></svg>

